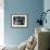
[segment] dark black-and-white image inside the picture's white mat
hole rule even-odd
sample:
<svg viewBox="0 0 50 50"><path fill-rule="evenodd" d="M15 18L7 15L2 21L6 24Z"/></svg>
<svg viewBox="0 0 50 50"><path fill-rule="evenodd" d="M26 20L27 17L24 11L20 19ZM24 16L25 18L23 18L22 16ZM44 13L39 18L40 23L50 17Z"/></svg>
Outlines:
<svg viewBox="0 0 50 50"><path fill-rule="evenodd" d="M24 16L14 16L13 24L14 25L25 25L25 17Z"/></svg>

